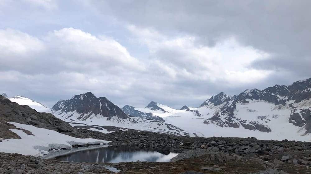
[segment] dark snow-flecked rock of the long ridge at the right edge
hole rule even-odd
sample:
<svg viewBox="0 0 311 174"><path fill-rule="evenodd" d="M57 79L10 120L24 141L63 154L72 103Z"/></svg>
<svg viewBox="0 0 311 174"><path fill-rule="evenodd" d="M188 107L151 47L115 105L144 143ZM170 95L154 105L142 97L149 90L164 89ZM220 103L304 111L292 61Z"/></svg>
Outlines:
<svg viewBox="0 0 311 174"><path fill-rule="evenodd" d="M307 80L300 80L292 85L275 85L263 90L252 89L245 90L239 95L229 96L221 92L216 96L212 96L210 99L202 103L201 107L209 107L211 104L214 106L221 105L220 112L217 112L214 116L204 121L205 124L215 124L221 127L240 127L245 129L258 130L264 132L271 132L272 130L263 124L255 121L240 120L236 118L234 112L236 111L236 105L238 103L249 103L248 100L261 100L275 105L279 105L279 109L286 106L290 101L294 101L288 106L291 109L289 116L289 123L295 126L303 127L306 133L311 132L311 105L305 104L302 109L299 106L295 106L295 103L299 103L311 98L311 78ZM308 108L309 107L309 108ZM249 112L256 112L251 111Z"/></svg>

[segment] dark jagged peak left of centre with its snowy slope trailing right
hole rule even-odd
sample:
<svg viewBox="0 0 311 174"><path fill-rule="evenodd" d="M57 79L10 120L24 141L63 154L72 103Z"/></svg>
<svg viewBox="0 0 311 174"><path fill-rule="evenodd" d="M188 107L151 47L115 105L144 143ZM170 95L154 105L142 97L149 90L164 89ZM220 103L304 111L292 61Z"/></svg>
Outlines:
<svg viewBox="0 0 311 174"><path fill-rule="evenodd" d="M91 92L75 95L70 100L59 100L49 112L71 124L83 123L94 127L116 126L175 135L191 135L172 124L161 121L161 118L157 120L147 116L133 117L130 114L128 116L107 98L96 98Z"/></svg>

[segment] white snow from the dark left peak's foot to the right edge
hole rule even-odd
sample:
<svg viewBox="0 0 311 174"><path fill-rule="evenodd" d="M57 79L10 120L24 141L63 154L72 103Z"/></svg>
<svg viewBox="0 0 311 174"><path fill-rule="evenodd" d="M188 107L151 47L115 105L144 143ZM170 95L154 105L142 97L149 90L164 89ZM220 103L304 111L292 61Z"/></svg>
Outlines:
<svg viewBox="0 0 311 174"><path fill-rule="evenodd" d="M246 91L249 92L249 91ZM280 99L286 99L285 96L278 96ZM220 112L220 108L224 107L225 103L215 106L213 103L209 103L206 106L199 108L190 108L191 110L197 110L202 116L198 117L195 112L186 111L186 110L178 110L174 108L170 108L167 105L159 104L157 105L160 108L163 108L165 111L161 110L151 110L150 108L135 108L141 112L151 112L154 116L160 116L165 119L165 123L177 126L178 128L184 130L184 132L190 133L190 136L224 136L224 137L256 137L261 140L298 140L298 141L310 141L311 142L311 134L304 135L304 127L297 127L288 122L291 107L298 107L300 111L303 108L311 107L311 99L304 100L299 103L294 103L294 100L287 101L285 106L275 105L273 103L268 103L265 101L256 101L249 100L249 103L237 103L236 111L234 115L236 118L241 120L255 121L258 124L263 124L268 126L272 132L260 132L258 130L252 131L248 129L244 129L242 125L239 128L232 127L219 127L214 124L204 124L203 122L211 118L215 113ZM231 104L232 101L229 102ZM298 112L297 111L297 112ZM78 122L85 123L87 125L100 125L100 126L116 126L123 127L128 129L136 129L136 130L145 130L145 131L153 131L153 132L161 132L161 133L178 133L176 130L169 130L165 124L161 124L160 126L157 124L158 122L152 122L150 120L143 120L139 117L131 117L133 120L128 119L120 119L115 116L111 120L107 120L105 117L101 115L91 115L89 119L86 121L77 120L81 114L77 112L68 112L68 113L58 113L52 112L56 117L63 119L68 122ZM67 118L72 115L72 117ZM87 114L85 114L86 116ZM221 115L220 118L224 119L226 115ZM94 128L91 130L98 131ZM102 131L105 133L105 131ZM107 132L109 133L109 132ZM179 132L181 135L183 133ZM304 136L302 136L304 135Z"/></svg>

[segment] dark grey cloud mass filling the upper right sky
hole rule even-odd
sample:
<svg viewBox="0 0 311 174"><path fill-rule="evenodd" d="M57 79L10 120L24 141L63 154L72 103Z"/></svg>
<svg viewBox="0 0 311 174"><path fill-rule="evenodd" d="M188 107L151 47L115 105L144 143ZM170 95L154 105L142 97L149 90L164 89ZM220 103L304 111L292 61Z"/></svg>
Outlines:
<svg viewBox="0 0 311 174"><path fill-rule="evenodd" d="M119 21L157 33L190 35L202 45L216 46L234 38L241 46L252 47L271 56L256 60L249 69L291 72L276 82L311 76L311 11L310 1L93 1L102 13L116 16ZM122 9L127 9L126 11ZM149 31L141 30L142 34ZM148 41L148 40L146 40ZM239 62L239 61L233 61ZM296 66L292 66L292 65ZM266 68L265 68L266 67ZM273 67L273 68L271 68ZM254 72L254 71L252 71ZM299 73L299 75L297 74ZM255 77L255 76L254 76ZM264 80L264 79L261 79ZM275 80L275 79L274 79ZM275 81L270 81L270 83Z"/></svg>

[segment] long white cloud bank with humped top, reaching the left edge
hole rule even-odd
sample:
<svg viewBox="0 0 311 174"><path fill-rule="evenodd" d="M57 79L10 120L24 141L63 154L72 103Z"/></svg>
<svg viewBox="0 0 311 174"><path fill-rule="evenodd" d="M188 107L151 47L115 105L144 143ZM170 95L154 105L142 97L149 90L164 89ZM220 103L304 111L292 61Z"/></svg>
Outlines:
<svg viewBox="0 0 311 174"><path fill-rule="evenodd" d="M0 30L0 60L3 70L28 74L73 72L114 72L122 69L144 71L144 65L112 38L73 28L49 32L36 38L17 30Z"/></svg>

